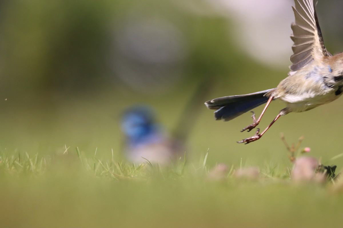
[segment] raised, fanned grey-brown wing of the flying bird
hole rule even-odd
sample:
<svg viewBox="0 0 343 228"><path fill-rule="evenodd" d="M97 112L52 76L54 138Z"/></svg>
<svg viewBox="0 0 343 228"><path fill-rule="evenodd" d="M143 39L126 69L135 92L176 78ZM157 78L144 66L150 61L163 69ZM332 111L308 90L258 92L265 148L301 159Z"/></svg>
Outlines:
<svg viewBox="0 0 343 228"><path fill-rule="evenodd" d="M316 58L331 56L326 50L320 31L314 0L294 0L295 22L291 28L293 55L289 58L293 65L289 66L292 75L295 71L312 62Z"/></svg>

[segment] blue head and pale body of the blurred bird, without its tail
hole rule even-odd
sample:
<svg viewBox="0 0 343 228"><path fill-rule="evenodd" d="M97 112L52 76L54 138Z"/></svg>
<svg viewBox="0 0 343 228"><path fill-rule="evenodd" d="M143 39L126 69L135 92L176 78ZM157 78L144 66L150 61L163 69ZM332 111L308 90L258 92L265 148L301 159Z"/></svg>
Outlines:
<svg viewBox="0 0 343 228"><path fill-rule="evenodd" d="M164 165L180 155L182 144L156 123L152 109L147 106L126 110L121 128L126 137L125 154L131 162Z"/></svg>

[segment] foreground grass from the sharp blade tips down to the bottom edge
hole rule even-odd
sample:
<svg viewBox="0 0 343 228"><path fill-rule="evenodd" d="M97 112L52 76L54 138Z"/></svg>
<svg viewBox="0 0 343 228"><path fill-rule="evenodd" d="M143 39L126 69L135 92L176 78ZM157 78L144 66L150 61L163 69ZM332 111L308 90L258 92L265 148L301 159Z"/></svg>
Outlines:
<svg viewBox="0 0 343 228"><path fill-rule="evenodd" d="M211 155L169 167L87 156L0 153L1 227L324 227L341 224L340 183L294 185L287 166L208 178ZM201 157L201 158L200 158ZM288 160L285 155L285 160ZM342 190L342 188L341 188Z"/></svg>

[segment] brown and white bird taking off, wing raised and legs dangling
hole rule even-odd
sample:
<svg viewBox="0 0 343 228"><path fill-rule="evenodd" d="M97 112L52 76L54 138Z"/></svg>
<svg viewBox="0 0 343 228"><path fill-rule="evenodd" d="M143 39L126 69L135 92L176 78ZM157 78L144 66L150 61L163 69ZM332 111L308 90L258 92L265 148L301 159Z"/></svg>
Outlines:
<svg viewBox="0 0 343 228"><path fill-rule="evenodd" d="M250 143L258 140L281 116L290 112L303 112L319 105L327 104L342 95L343 91L343 53L332 56L325 48L319 27L314 0L294 0L292 7L295 23L291 28L293 54L288 77L274 89L245 95L220 97L205 102L215 109L217 120L232 120L237 116L265 104L259 118L252 112L253 123L242 130L252 130L260 122L263 113L272 100L280 99L286 103L275 119L260 133L257 129L252 137L238 143Z"/></svg>

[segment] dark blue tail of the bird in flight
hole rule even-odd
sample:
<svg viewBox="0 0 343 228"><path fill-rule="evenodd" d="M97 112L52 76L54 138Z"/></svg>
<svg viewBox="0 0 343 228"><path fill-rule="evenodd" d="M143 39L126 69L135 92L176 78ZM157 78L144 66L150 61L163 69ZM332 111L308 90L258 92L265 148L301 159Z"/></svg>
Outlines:
<svg viewBox="0 0 343 228"><path fill-rule="evenodd" d="M205 102L209 109L215 109L216 120L232 120L243 113L256 108L268 100L268 94L274 89L263 90L244 95L219 97ZM266 95L267 94L267 95Z"/></svg>

